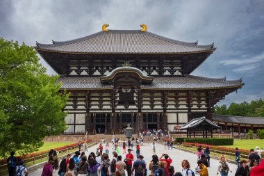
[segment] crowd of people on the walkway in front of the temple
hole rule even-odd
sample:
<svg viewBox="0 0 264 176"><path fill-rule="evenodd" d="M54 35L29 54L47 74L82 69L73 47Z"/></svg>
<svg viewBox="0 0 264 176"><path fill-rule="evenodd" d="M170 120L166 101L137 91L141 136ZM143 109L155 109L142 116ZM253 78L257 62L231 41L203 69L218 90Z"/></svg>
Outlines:
<svg viewBox="0 0 264 176"><path fill-rule="evenodd" d="M195 170L190 169L190 162L188 159L181 161L181 172L175 173L174 166L172 164L172 158L169 154L156 154L156 142L151 143L153 150L152 160L147 163L144 160L144 155L140 154L139 138L134 138L131 141L119 141L117 138L113 138L112 156L110 156L109 144L102 138L102 142L97 147L96 151L90 151L88 154L87 144L79 142L79 151L76 151L74 155L67 154L67 156L59 161L58 152L56 150L50 150L49 160L44 164L42 170L42 176L52 176L54 170L60 176L147 176L147 170L149 170L149 176L193 176L199 174L201 176L208 176L208 167L210 167L210 149L205 147L204 149L199 146L197 148L197 168ZM121 143L122 151L119 151L119 144ZM173 145L171 143L164 143L165 149L172 150ZM128 147L128 148L126 148ZM135 148L135 149L134 149ZM83 149L83 150L81 150ZM132 154L134 151L136 156ZM121 152L124 158L122 158ZM264 175L264 162L261 162L261 152L259 147L256 150L251 149L248 156L248 161L240 161L240 152L236 148L235 160L238 163L236 170L231 169L231 165L226 161L224 155L220 156L220 160L217 166L216 174L221 176L227 176L229 172L236 172L236 176L261 176ZM15 152L10 153L8 157L8 173L10 176L25 176L28 175L28 171L24 166L24 162L21 158L15 157ZM110 158L112 158L110 160ZM249 163L248 163L249 162ZM147 167L148 166L148 167Z"/></svg>

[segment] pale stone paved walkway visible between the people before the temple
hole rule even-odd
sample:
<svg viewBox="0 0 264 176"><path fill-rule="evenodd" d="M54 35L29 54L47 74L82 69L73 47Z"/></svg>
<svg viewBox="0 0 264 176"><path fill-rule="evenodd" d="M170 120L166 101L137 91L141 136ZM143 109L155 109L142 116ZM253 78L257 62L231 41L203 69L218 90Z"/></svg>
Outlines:
<svg viewBox="0 0 264 176"><path fill-rule="evenodd" d="M90 154L90 152L96 152L96 148L98 146L99 145L95 145L95 146L88 148L88 153ZM112 145L110 144L110 152L109 152L110 159L113 158L112 152L113 152ZM162 153L167 153L172 158L172 166L174 166L176 172L181 171L181 161L183 159L188 159L188 161L190 162L190 166L191 166L192 170L195 170L195 167L197 167L197 155L196 154L191 154L189 152L183 152L181 150L175 150L175 149L174 150L165 150L164 145L157 144L156 145L156 154L158 155L158 157L160 157L160 155ZM122 155L122 159L124 159L125 154L122 154L122 147L120 147L120 154ZM132 154L134 155L134 158L135 158L135 156L136 156L135 147L133 147ZM151 148L151 143L144 143L143 146L140 146L140 154L142 154L144 156L144 159L147 163L147 168L148 168L149 162L152 159L151 156L153 154L153 151ZM229 165L231 166L231 169L233 170L233 173L229 172L229 176L234 176L237 166L232 164L232 163L229 163ZM211 159L211 167L208 168L208 172L209 172L210 176L216 176L217 166L218 166L218 161L216 159ZM42 173L42 169L38 169L35 172L30 173L29 176L40 176L41 173ZM53 171L53 175L58 175L58 171ZM149 175L149 169L148 169L147 175ZM220 175L220 173L219 173L219 175Z"/></svg>

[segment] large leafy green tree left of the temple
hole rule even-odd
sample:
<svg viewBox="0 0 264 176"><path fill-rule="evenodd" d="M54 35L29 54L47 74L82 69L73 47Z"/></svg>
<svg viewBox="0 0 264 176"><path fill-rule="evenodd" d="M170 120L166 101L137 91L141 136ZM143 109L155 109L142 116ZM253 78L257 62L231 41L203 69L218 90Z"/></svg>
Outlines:
<svg viewBox="0 0 264 176"><path fill-rule="evenodd" d="M0 155L33 152L45 136L60 134L69 95L59 93L33 47L0 38Z"/></svg>

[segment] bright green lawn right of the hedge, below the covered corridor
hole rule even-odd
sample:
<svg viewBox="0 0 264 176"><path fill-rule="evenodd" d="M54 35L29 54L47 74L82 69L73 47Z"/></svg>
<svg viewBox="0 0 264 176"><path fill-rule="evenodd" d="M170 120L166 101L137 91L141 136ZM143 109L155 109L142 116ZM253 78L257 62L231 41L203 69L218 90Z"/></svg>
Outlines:
<svg viewBox="0 0 264 176"><path fill-rule="evenodd" d="M236 148L238 149L245 149L250 150L251 148L255 149L256 146L264 147L264 140L261 139L234 139L233 145L224 145L223 147L230 147L230 148Z"/></svg>

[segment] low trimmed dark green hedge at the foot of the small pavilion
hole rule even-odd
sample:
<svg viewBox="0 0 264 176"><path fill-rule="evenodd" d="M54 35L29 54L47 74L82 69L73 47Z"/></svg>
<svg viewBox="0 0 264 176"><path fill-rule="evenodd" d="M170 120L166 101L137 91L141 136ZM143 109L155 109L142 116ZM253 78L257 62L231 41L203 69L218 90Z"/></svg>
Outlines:
<svg viewBox="0 0 264 176"><path fill-rule="evenodd" d="M204 143L208 145L233 145L233 138L184 138L187 143Z"/></svg>

